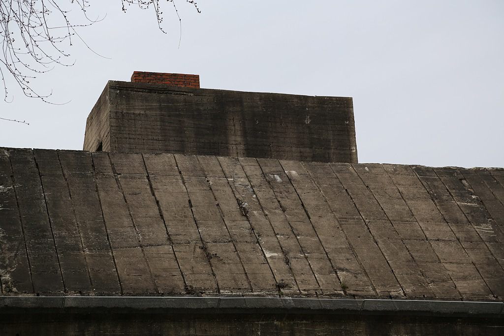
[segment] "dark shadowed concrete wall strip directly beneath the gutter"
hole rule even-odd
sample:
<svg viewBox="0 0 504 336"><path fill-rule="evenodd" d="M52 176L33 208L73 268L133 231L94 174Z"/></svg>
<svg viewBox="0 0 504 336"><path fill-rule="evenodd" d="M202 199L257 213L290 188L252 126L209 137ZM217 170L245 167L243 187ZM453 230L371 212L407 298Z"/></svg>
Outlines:
<svg viewBox="0 0 504 336"><path fill-rule="evenodd" d="M502 319L356 315L36 314L0 316L5 335L502 335Z"/></svg>

